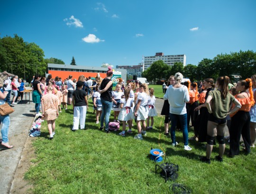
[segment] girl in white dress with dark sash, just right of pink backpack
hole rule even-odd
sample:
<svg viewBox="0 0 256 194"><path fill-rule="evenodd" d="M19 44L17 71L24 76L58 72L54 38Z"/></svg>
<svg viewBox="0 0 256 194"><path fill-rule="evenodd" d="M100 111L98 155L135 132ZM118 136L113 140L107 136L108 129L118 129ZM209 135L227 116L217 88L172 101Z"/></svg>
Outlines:
<svg viewBox="0 0 256 194"><path fill-rule="evenodd" d="M121 111L118 115L118 119L120 121L123 121L123 131L119 133L119 135L121 136L125 136L125 128L126 128L126 122L128 122L128 126L129 126L129 131L128 133L131 133L132 130L132 102L133 102L133 98L129 97L130 96L130 89L129 88L125 88L124 89L124 98L122 98L120 100L120 108Z"/></svg>

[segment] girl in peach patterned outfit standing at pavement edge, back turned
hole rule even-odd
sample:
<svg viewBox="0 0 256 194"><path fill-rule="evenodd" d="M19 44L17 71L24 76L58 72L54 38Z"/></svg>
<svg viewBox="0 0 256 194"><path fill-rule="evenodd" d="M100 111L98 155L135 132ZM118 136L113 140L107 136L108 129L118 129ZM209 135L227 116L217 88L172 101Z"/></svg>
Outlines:
<svg viewBox="0 0 256 194"><path fill-rule="evenodd" d="M47 94L42 97L42 119L47 121L49 140L55 135L55 119L58 115L58 97L53 94L53 86L49 84Z"/></svg>

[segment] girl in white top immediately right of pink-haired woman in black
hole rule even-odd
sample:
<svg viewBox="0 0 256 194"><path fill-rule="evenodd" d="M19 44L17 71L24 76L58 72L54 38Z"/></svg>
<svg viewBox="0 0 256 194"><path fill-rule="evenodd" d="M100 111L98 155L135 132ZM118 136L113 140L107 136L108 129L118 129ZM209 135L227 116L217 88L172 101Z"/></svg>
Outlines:
<svg viewBox="0 0 256 194"><path fill-rule="evenodd" d="M121 85L117 84L115 91L112 91L112 110L114 111L114 122L119 122L119 120L116 120L116 118L119 115L119 112L121 110L120 108L120 100L122 98L122 95L124 93L121 90Z"/></svg>

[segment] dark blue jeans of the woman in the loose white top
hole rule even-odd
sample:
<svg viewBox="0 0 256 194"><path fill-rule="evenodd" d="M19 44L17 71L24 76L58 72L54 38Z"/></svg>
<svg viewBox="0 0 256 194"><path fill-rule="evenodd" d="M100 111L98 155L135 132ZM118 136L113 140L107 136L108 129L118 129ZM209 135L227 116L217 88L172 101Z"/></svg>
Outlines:
<svg viewBox="0 0 256 194"><path fill-rule="evenodd" d="M183 141L184 145L188 145L188 126L187 126L187 114L184 115L175 115L170 113L171 119L171 138L172 143L175 143L175 129L177 125L177 121L179 120L181 123L181 128L183 132Z"/></svg>

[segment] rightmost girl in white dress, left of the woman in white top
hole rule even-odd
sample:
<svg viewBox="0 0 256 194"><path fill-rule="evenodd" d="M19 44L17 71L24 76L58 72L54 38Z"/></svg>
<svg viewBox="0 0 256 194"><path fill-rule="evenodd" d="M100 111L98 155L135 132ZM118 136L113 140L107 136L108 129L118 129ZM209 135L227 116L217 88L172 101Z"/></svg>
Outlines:
<svg viewBox="0 0 256 194"><path fill-rule="evenodd" d="M148 117L146 120L147 129L153 129L154 124L154 116L157 116L156 108L155 108L155 96L154 96L154 88L149 88L149 101L148 101ZM149 126L149 119L151 120L151 125Z"/></svg>

